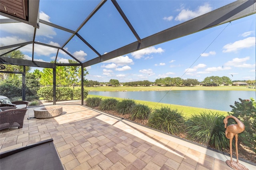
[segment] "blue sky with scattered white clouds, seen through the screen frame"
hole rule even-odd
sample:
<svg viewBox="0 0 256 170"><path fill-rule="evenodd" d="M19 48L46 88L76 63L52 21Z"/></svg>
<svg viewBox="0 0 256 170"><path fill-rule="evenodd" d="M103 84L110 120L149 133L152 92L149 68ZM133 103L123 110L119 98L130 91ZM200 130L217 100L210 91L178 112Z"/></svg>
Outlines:
<svg viewBox="0 0 256 170"><path fill-rule="evenodd" d="M40 18L75 31L98 2L40 0ZM233 1L120 0L117 2L140 38L145 38ZM49 5L58 8L52 10L48 8ZM86 78L99 82L108 82L110 79L118 79L120 82L155 81L164 77L202 81L208 76L254 80L255 18L255 15L241 18L91 65L87 67L89 75ZM33 27L22 23L1 24L0 30L1 44L4 45L32 41L34 32ZM111 1L107 1L78 33L100 54L136 41ZM40 23L35 40L62 47L70 36L70 33ZM64 49L82 62L97 57L96 53L76 36ZM26 45L20 50L27 59L32 59L32 45ZM50 62L54 60L57 50L35 45L34 52L35 61ZM60 50L57 61L67 63L67 59L71 57ZM32 70L34 69L36 67Z"/></svg>

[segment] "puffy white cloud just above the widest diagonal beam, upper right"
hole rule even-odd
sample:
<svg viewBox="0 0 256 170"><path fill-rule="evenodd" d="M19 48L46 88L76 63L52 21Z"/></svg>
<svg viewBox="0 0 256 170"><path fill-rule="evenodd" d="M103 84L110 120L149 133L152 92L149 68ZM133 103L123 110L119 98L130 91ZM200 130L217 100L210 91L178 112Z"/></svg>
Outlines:
<svg viewBox="0 0 256 170"><path fill-rule="evenodd" d="M192 18L196 18L202 14L206 14L207 12L210 12L212 10L212 7L210 7L209 4L205 4L204 6L199 6L196 11L192 11L189 9L182 9L180 14L176 16L176 21L187 21Z"/></svg>

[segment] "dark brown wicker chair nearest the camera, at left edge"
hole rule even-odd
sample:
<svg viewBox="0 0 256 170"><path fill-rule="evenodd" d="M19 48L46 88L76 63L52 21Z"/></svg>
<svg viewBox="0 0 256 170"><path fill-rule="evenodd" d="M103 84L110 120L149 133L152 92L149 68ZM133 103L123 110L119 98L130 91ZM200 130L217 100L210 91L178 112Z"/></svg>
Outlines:
<svg viewBox="0 0 256 170"><path fill-rule="evenodd" d="M24 117L28 109L9 109L0 112L0 130L9 127L23 127Z"/></svg>

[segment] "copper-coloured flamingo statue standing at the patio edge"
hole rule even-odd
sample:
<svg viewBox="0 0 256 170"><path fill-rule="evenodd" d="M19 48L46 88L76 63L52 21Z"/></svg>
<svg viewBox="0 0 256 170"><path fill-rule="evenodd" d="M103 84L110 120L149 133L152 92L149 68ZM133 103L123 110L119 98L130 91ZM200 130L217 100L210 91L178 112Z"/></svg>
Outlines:
<svg viewBox="0 0 256 170"><path fill-rule="evenodd" d="M229 118L234 119L237 124L232 124L232 125L229 125L227 127ZM230 161L227 160L226 164L228 164L228 166L230 166L231 168L235 168L236 170L246 170L246 169L248 170L248 168L246 168L242 164L239 164L239 162L238 162L238 146L237 146L238 134L244 131L244 129L245 129L244 124L239 119L237 119L236 117L231 116L231 115L227 116L224 119L223 122L224 122L225 128L226 128L226 131L225 131L226 138L229 139L229 144L230 144ZM232 160L232 140L233 140L234 136L236 138L236 161L237 161L237 165L233 164L233 160Z"/></svg>

